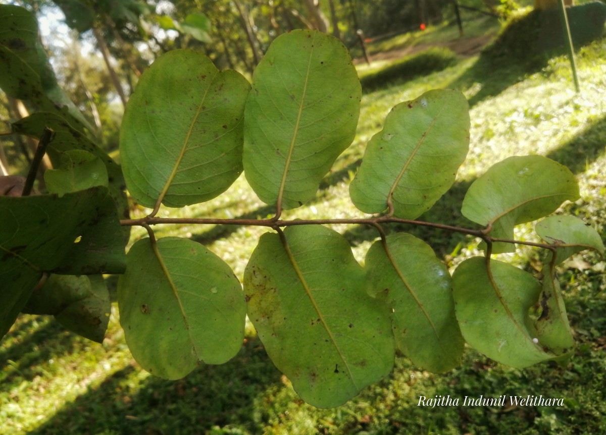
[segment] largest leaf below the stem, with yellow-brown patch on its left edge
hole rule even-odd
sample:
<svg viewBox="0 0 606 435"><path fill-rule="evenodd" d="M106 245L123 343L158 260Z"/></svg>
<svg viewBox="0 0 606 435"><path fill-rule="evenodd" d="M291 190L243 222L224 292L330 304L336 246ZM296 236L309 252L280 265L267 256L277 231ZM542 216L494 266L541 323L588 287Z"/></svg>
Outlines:
<svg viewBox="0 0 606 435"><path fill-rule="evenodd" d="M321 225L261 236L244 272L248 317L305 402L342 405L393 367L389 312L364 289L341 234Z"/></svg>

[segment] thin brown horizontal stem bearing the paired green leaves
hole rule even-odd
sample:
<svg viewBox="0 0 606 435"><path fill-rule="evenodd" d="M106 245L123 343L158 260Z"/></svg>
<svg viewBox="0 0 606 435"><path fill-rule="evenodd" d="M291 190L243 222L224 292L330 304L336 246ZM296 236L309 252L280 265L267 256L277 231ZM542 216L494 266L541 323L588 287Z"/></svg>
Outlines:
<svg viewBox="0 0 606 435"><path fill-rule="evenodd" d="M215 218L156 218L155 216L145 216L139 219L122 219L120 224L123 227L145 227L159 224L193 224L193 225L239 225L242 227L269 227L277 230L281 227L292 227L294 225L371 225L375 228L381 224L406 224L417 225L421 227L435 228L436 230L445 230L453 233L468 234L470 236L479 237L487 244L493 242L504 242L509 244L527 245L538 248L553 250L554 245L545 243L525 242L519 240L501 239L491 237L487 234L487 228L482 230L471 230L470 228L454 227L453 225L436 224L435 222L415 221L412 219L401 219L393 216L379 216L376 218L349 218L349 219L296 219L287 221L276 219L215 219Z"/></svg>

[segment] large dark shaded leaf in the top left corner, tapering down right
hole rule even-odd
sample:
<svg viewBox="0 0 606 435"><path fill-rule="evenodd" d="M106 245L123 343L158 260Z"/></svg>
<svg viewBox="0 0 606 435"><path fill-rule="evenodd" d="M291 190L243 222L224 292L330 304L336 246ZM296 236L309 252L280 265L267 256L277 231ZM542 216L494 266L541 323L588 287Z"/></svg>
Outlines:
<svg viewBox="0 0 606 435"><path fill-rule="evenodd" d="M39 41L35 16L18 6L0 5L0 22L0 87L5 93L24 100L30 111L57 113L79 131L93 131L59 87Z"/></svg>

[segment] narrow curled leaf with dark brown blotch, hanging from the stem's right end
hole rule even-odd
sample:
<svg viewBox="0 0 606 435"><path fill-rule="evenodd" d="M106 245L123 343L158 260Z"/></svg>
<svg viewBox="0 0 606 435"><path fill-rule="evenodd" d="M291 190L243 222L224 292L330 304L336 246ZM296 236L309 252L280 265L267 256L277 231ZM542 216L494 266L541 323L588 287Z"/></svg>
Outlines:
<svg viewBox="0 0 606 435"><path fill-rule="evenodd" d="M574 338L554 264L551 263L551 253L542 273L543 287L539 297L541 314L535 322L539 344L560 356L558 359L567 360L574 351Z"/></svg>

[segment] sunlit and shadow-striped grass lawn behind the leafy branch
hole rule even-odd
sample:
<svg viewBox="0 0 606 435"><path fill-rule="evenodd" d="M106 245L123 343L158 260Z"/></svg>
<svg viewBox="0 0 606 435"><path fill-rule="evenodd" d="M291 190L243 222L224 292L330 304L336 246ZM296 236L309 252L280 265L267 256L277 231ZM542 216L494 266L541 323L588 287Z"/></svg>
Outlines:
<svg viewBox="0 0 606 435"><path fill-rule="evenodd" d="M362 216L348 200L348 183L365 143L380 130L393 105L431 88L456 87L471 101L471 146L453 189L425 214L431 221L470 225L460 213L468 185L490 165L511 155L543 154L573 170L581 199L573 213L606 234L606 43L578 53L582 92L571 84L564 57L541 67L490 65L480 58L405 83L368 92L355 142L325 178L316 199L284 218ZM484 62L484 63L483 63ZM148 210L136 209L135 216ZM168 211L161 212L168 213ZM272 209L243 178L228 192L175 216L266 217ZM364 227L336 225L356 258L376 239ZM241 277L261 228L164 226L158 236L185 235L222 256ZM393 230L393 228L392 228ZM478 253L476 241L458 234L411 228L431 240L451 266ZM133 230L133 239L144 231ZM530 225L516 237L532 239ZM511 256L510 256L511 257ZM513 256L528 270L540 268L531 250ZM527 263L530 261L530 263ZM419 371L399 358L387 379L333 410L303 403L271 364L248 328L240 353L221 366L202 366L170 382L143 372L124 342L114 312L98 345L63 330L47 317L24 316L0 345L2 434L598 434L606 430L606 262L579 255L561 269L568 314L578 350L566 367L539 364L526 370L496 365L468 349L461 367L441 375ZM562 398L564 407L418 407L419 396Z"/></svg>

